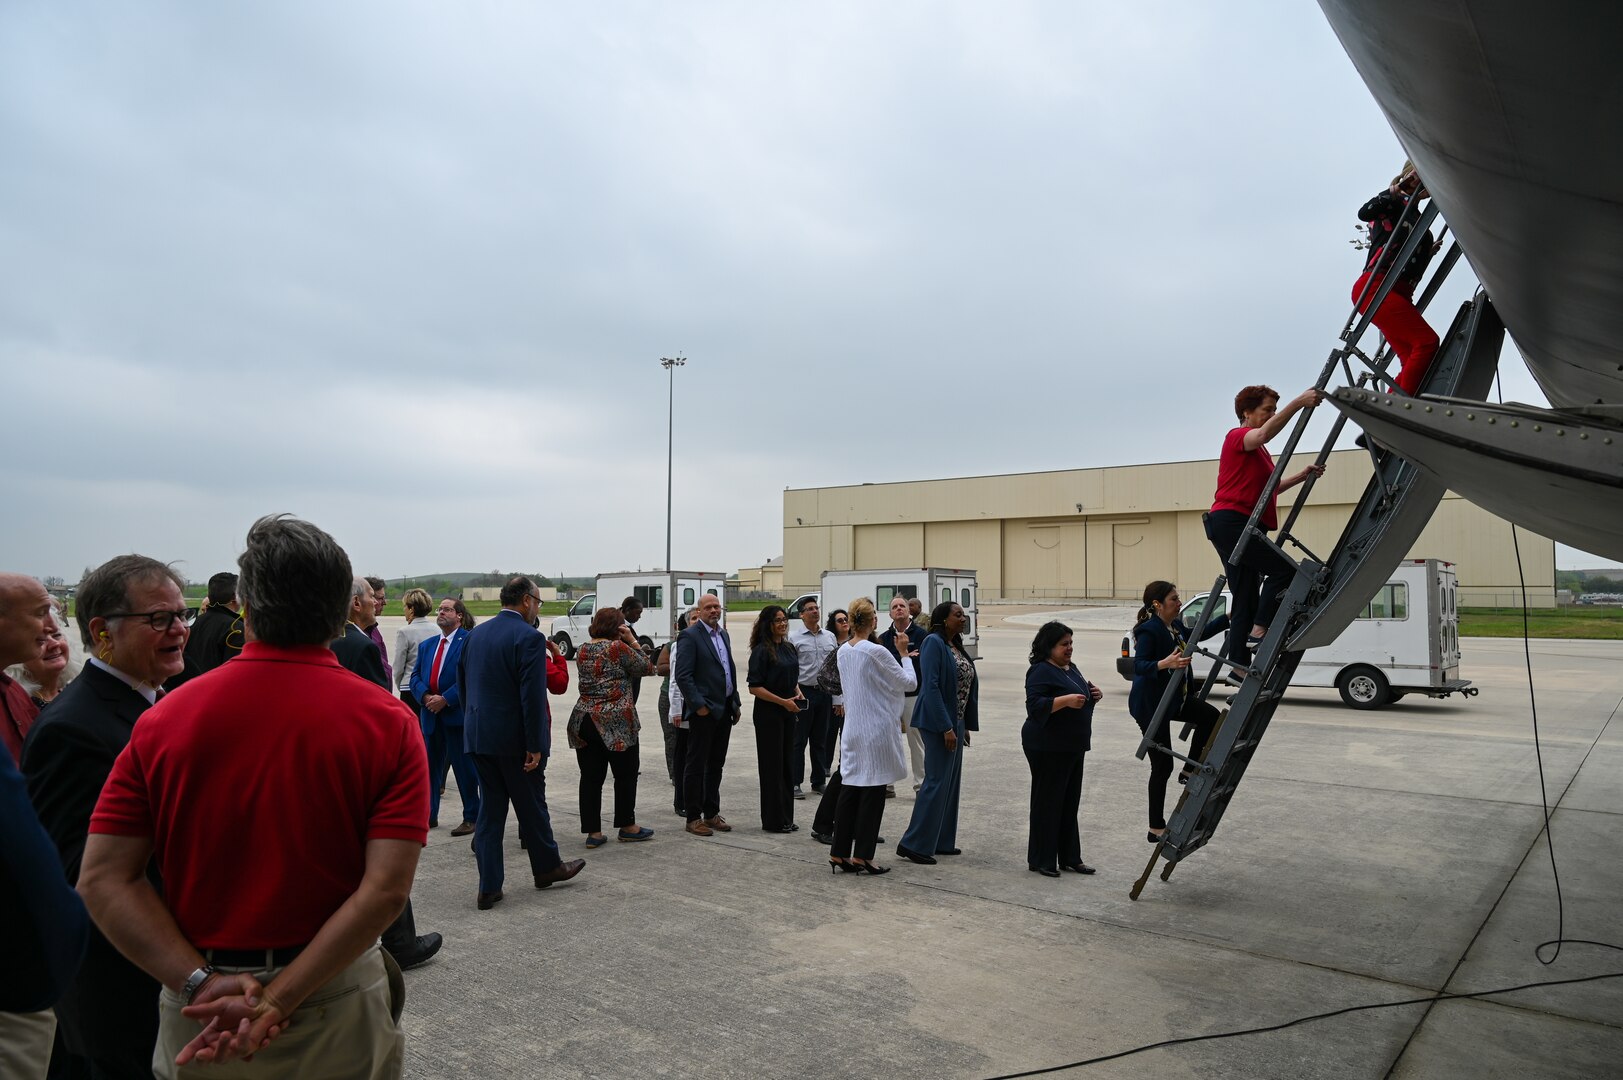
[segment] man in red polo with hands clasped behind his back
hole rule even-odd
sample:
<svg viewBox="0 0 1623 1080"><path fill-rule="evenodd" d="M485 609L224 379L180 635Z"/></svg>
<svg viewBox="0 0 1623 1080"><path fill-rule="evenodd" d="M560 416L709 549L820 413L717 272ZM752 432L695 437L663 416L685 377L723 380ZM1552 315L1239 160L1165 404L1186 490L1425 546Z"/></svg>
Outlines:
<svg viewBox="0 0 1623 1080"><path fill-rule="evenodd" d="M428 836L417 718L326 645L352 581L331 536L260 518L239 567L247 645L141 716L91 817L80 893L164 984L159 1077L247 1054L256 1077L399 1077L378 934ZM154 856L162 896L143 874ZM299 1038L273 1044L289 1023Z"/></svg>

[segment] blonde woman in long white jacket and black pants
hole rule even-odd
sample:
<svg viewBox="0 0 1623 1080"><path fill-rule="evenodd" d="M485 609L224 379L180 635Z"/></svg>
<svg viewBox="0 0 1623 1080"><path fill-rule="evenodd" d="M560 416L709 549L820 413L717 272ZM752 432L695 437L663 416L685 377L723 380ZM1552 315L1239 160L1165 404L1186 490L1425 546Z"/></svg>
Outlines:
<svg viewBox="0 0 1623 1080"><path fill-rule="evenodd" d="M839 648L839 687L846 698L846 728L839 736L839 806L834 810L834 846L829 867L847 874L886 874L873 866L885 786L907 778L907 749L896 724L902 695L919 685L912 664L868 640L873 601L857 598L846 609L850 642Z"/></svg>

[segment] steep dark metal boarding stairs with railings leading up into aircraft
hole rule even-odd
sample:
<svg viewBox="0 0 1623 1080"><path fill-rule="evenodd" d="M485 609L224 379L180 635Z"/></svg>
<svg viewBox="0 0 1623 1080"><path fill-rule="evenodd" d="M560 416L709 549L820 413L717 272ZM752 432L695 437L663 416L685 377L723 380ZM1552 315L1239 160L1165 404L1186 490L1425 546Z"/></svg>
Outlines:
<svg viewBox="0 0 1623 1080"><path fill-rule="evenodd" d="M1435 218L1435 203L1428 203L1425 210L1410 203L1399 221L1399 229L1404 222L1414 222L1407 242L1396 253L1391 250L1393 244L1388 244L1388 252L1384 252L1388 258L1378 270L1407 265ZM1446 229L1443 235L1446 237ZM1430 305L1444 278L1459 261L1459 244L1451 242L1448 253L1415 300L1419 310L1423 312ZM1357 393L1368 393L1371 401L1380 400L1389 408L1401 409L1431 408L1427 400L1433 396L1485 400L1498 369L1500 348L1505 339L1505 325L1488 296L1479 289L1470 300L1461 305L1431 359L1420 395L1409 398L1396 390L1386 374L1394 357L1384 341L1378 339L1373 356L1358 344L1370 330L1370 313L1380 309L1397 281L1397 274L1389 273L1389 270L1383 274L1371 274L1371 281L1376 278L1381 278L1381 284L1373 291L1365 287L1365 296L1360 296L1358 302L1354 304L1352 315L1342 326L1339 341L1319 370L1315 387L1326 390L1339 374ZM1373 296L1368 296L1370 292ZM1368 307L1360 312L1367 297ZM1376 338L1380 336L1376 335ZM1216 650L1201 646L1206 625L1212 619L1212 611L1225 585L1225 578L1219 575L1199 611L1195 629L1188 633L1183 651L1185 654L1201 653L1212 661L1211 671L1198 689L1203 702L1211 698L1219 685L1227 692L1238 682L1238 689L1233 689L1227 710L1220 710L1220 721L1208 745L1190 747L1188 755L1177 749L1169 750L1157 742L1157 732L1164 724L1175 723L1178 711L1175 703L1183 700L1185 679L1191 677L1188 669L1175 669L1156 716L1138 745L1141 758L1146 754L1170 754L1183 765L1195 768L1195 773L1183 788L1177 807L1167 817L1165 836L1156 845L1143 875L1133 885L1130 893L1133 900L1138 900L1157 861L1165 861L1160 880L1167 880L1178 862L1211 841L1245 778L1246 767L1263 742L1263 736L1268 734L1268 724L1284 700L1303 651L1334 642L1347 629L1370 603L1375 591L1386 583L1397 564L1407 557L1420 529L1425 528L1443 499L1443 484L1404 458L1371 443L1368 451L1373 476L1328 557L1310 551L1295 533L1297 518L1313 490L1315 476L1308 476L1300 486L1295 505L1279 534L1268 536L1259 528L1261 515L1281 479L1289 474L1290 460L1302 442L1311 414L1311 408L1297 414L1290 437L1274 464L1274 473L1235 544L1233 555L1227 560L1229 565L1233 565L1245 554L1246 546L1268 544L1295 565L1295 577L1285 588L1268 633L1248 664L1229 659L1222 654L1225 650L1220 645ZM1315 456L1316 464L1324 464L1329 460L1344 424L1345 416L1337 416L1329 437ZM1250 627L1229 627L1229 633L1250 633ZM1216 640L1222 642L1222 638ZM1188 736L1188 726L1185 726L1183 736ZM1173 745L1177 744L1173 742Z"/></svg>

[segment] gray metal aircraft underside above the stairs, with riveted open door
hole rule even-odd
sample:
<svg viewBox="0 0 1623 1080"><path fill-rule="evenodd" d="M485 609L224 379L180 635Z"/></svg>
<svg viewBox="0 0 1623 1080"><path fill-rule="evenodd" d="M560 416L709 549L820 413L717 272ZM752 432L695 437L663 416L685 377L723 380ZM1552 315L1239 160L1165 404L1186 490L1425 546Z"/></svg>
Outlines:
<svg viewBox="0 0 1623 1080"><path fill-rule="evenodd" d="M1552 408L1332 403L1466 499L1623 559L1623 3L1319 6Z"/></svg>

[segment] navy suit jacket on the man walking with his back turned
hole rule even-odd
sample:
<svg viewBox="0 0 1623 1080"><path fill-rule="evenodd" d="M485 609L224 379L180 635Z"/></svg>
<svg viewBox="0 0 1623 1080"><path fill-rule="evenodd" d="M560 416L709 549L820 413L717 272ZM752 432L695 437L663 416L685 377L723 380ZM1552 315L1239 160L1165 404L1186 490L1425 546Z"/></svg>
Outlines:
<svg viewBox="0 0 1623 1080"><path fill-rule="evenodd" d="M469 754L552 754L547 645L516 611L503 607L467 632L456 659L456 685Z"/></svg>

